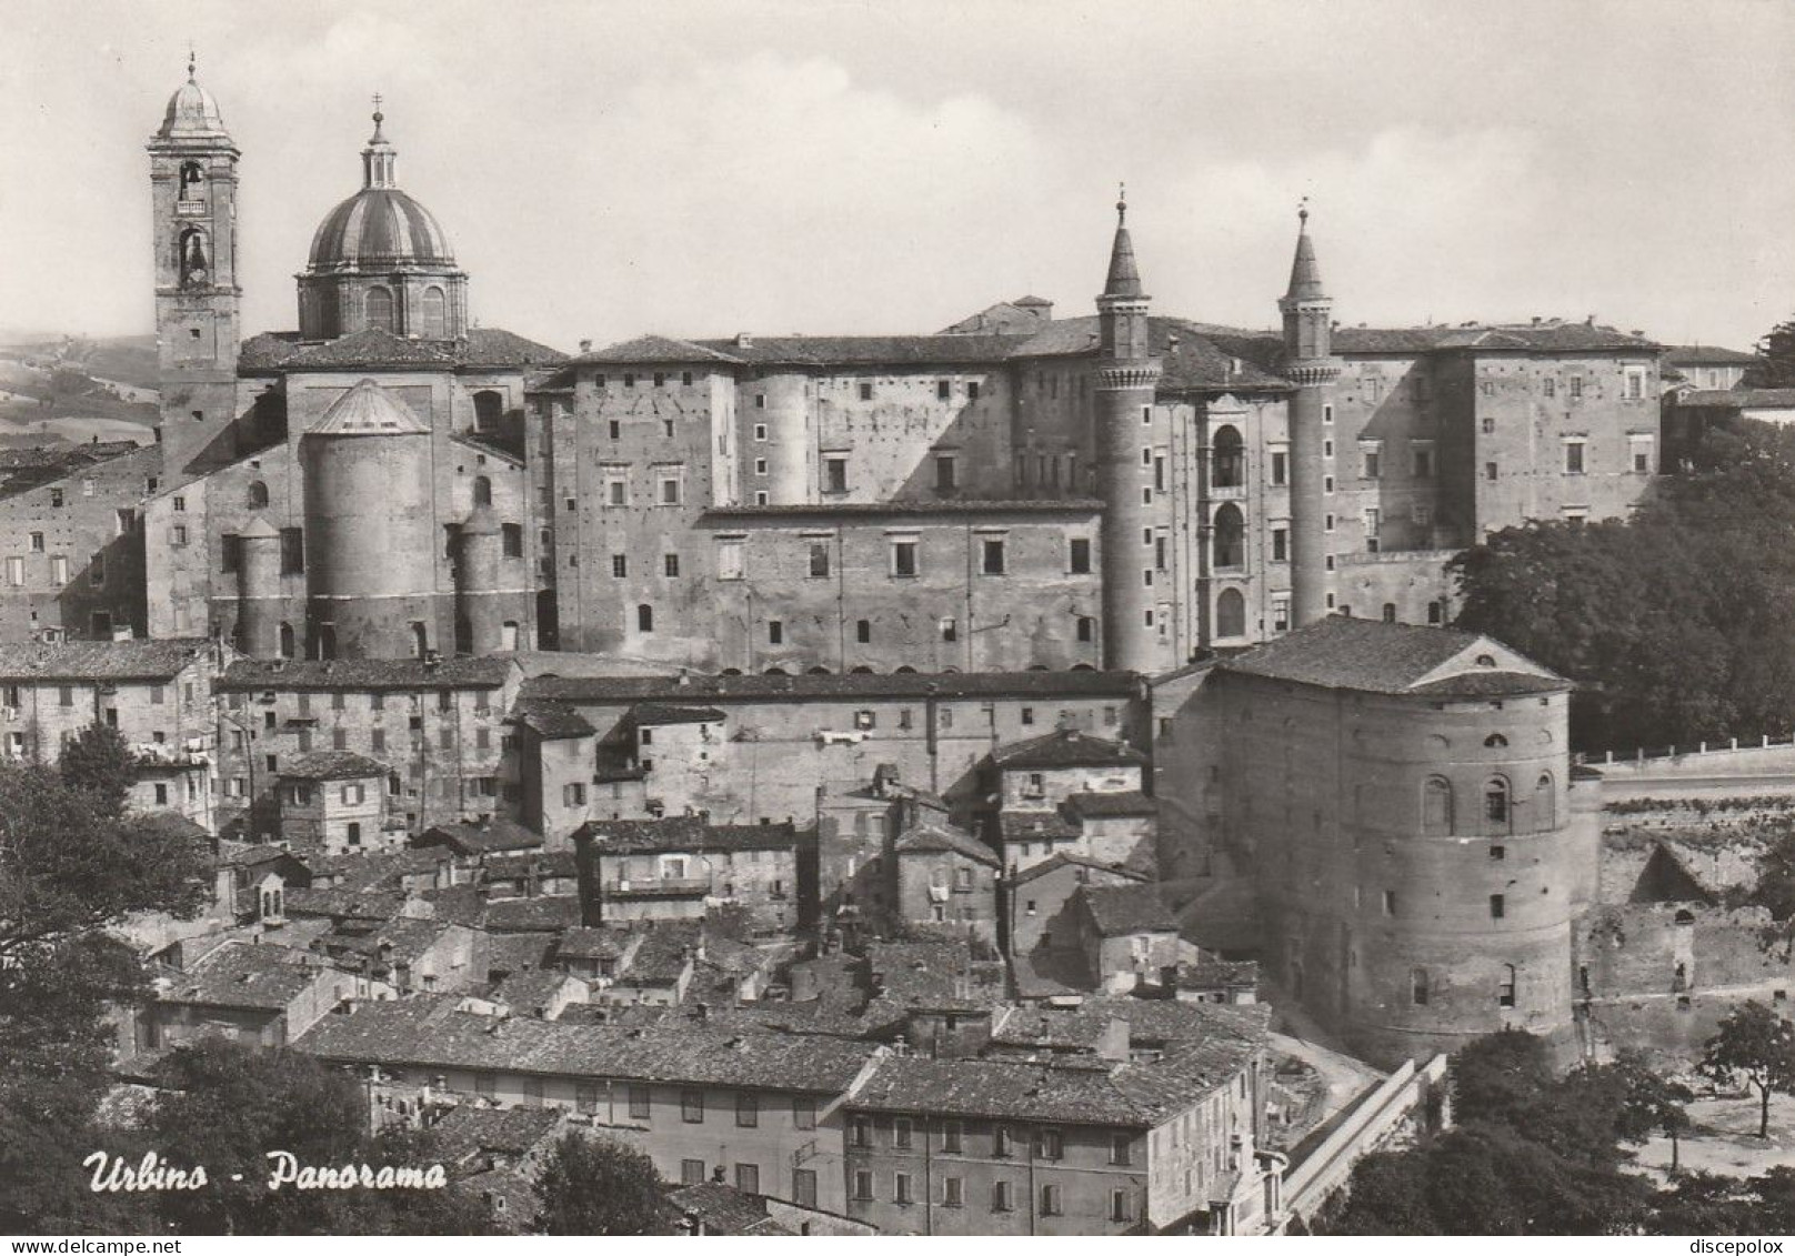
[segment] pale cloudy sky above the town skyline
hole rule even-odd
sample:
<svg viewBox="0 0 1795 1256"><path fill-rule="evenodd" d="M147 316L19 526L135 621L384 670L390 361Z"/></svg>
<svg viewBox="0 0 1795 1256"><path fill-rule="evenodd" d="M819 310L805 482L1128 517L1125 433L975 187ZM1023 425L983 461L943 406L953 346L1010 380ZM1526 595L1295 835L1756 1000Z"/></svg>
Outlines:
<svg viewBox="0 0 1795 1256"><path fill-rule="evenodd" d="M1784 0L4 0L0 328L151 328L188 39L246 330L296 323L377 90L476 318L560 348L1082 314L1124 179L1156 309L1204 321L1273 321L1303 196L1346 323L1795 312Z"/></svg>

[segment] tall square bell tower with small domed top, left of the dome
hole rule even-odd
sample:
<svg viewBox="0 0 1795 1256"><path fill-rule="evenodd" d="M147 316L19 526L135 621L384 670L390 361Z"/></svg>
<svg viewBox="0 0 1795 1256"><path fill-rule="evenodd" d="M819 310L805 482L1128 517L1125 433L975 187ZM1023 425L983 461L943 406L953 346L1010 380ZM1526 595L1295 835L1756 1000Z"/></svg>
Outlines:
<svg viewBox="0 0 1795 1256"><path fill-rule="evenodd" d="M217 100L194 77L169 97L149 144L156 262L158 440L171 475L228 461L237 418L237 153Z"/></svg>

